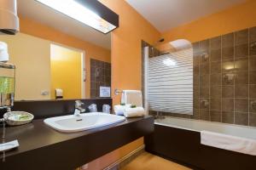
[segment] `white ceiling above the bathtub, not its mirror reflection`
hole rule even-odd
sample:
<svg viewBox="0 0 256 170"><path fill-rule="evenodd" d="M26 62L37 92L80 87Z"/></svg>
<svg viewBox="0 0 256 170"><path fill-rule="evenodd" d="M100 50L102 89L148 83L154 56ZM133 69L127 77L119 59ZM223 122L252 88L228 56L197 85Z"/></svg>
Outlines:
<svg viewBox="0 0 256 170"><path fill-rule="evenodd" d="M246 0L126 0L158 31L197 20Z"/></svg>

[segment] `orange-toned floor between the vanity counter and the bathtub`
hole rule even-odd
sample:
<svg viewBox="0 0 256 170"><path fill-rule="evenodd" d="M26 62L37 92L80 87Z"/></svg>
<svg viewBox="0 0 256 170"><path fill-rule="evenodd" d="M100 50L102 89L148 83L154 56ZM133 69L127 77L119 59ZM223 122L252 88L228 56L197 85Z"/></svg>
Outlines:
<svg viewBox="0 0 256 170"><path fill-rule="evenodd" d="M128 163L121 170L189 170L175 162L168 161L159 156L154 156L148 152L143 152L136 159Z"/></svg>

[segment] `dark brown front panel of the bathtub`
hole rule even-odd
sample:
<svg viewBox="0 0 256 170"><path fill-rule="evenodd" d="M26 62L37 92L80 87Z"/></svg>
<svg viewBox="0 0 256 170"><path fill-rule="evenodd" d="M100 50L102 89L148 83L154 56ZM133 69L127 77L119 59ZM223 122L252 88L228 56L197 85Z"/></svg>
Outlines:
<svg viewBox="0 0 256 170"><path fill-rule="evenodd" d="M155 124L154 133L145 138L146 151L192 169L254 169L256 156L203 145L200 139L198 131Z"/></svg>

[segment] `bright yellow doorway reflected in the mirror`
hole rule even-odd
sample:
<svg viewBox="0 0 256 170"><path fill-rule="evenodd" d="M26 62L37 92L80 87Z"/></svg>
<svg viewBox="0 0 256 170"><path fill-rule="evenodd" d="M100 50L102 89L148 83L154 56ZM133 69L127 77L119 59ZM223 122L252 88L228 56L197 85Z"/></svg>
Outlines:
<svg viewBox="0 0 256 170"><path fill-rule="evenodd" d="M50 44L51 99L85 98L85 53L76 48Z"/></svg>

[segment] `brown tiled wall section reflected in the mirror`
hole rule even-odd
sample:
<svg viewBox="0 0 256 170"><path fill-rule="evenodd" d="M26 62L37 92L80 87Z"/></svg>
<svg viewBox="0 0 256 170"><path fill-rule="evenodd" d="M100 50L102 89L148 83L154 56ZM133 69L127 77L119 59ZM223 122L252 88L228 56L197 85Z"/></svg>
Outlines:
<svg viewBox="0 0 256 170"><path fill-rule="evenodd" d="M111 86L111 64L90 59L90 97L100 97L100 87Z"/></svg>

